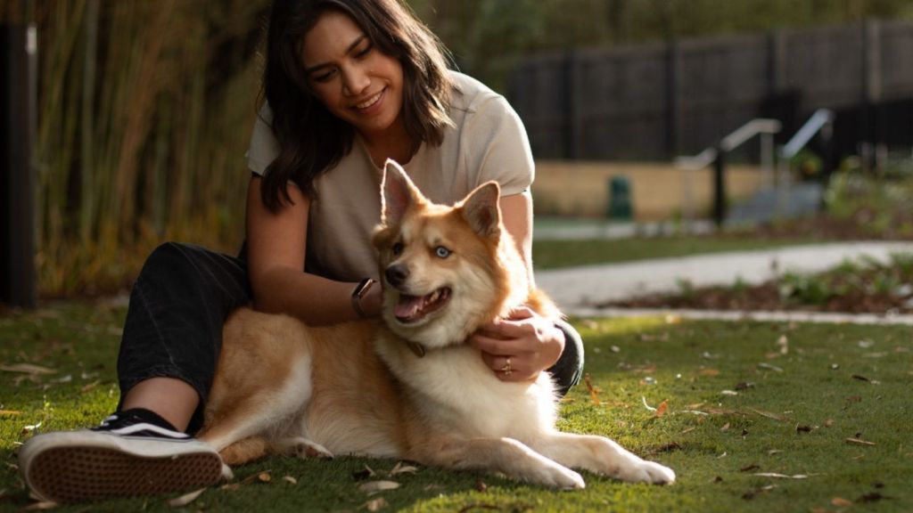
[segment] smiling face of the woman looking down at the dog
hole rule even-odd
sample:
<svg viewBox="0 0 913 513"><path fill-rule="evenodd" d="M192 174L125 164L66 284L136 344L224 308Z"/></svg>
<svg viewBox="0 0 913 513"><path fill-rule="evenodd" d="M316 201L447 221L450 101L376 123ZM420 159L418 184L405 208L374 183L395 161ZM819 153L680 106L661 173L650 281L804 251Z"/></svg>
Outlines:
<svg viewBox="0 0 913 513"><path fill-rule="evenodd" d="M351 17L326 11L304 36L310 89L366 139L383 136L403 109L403 65L374 47Z"/></svg>

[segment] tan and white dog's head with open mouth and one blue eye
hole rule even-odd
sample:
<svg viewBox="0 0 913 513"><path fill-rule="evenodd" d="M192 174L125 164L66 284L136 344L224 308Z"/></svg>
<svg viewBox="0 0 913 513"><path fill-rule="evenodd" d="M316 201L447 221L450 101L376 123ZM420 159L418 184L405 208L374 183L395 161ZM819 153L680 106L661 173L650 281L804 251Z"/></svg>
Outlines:
<svg viewBox="0 0 913 513"><path fill-rule="evenodd" d="M382 189L373 244L383 318L398 335L428 349L460 343L529 294L526 267L501 225L498 183L453 206L434 204L387 161Z"/></svg>

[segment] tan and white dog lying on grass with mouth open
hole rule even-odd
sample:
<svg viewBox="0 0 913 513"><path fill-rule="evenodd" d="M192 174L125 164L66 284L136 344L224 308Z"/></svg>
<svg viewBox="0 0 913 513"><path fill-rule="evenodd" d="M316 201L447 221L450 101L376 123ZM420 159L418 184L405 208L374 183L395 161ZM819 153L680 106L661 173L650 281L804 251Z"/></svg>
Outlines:
<svg viewBox="0 0 913 513"><path fill-rule="evenodd" d="M200 439L230 466L270 454L363 455L559 489L584 487L572 468L672 483L671 469L608 438L558 432L547 372L502 382L466 343L512 307L561 315L530 285L499 195L489 182L453 206L433 204L388 161L373 235L383 319L310 327L236 311Z"/></svg>

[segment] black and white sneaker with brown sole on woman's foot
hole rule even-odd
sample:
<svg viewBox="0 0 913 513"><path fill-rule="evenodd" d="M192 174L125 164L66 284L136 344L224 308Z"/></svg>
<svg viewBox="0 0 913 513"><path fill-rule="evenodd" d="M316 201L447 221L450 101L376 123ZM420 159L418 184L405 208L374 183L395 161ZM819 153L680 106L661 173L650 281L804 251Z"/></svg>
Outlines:
<svg viewBox="0 0 913 513"><path fill-rule="evenodd" d="M131 411L93 429L38 434L19 449L26 486L41 500L76 502L219 482L222 458L212 446L146 420Z"/></svg>

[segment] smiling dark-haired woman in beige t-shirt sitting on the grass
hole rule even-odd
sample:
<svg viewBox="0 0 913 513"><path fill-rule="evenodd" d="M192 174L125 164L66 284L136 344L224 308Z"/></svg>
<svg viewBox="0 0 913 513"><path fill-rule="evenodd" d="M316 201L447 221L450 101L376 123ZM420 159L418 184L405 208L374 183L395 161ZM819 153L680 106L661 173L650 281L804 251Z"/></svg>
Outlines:
<svg viewBox="0 0 913 513"><path fill-rule="evenodd" d="M502 97L446 69L436 38L404 5L278 0L267 45L267 103L247 153L247 251L227 257L172 243L152 253L131 293L118 412L91 430L38 435L20 451L39 497L215 483L221 460L189 434L202 424L226 316L250 302L311 325L378 315L370 234L388 158L436 203L497 180L504 224L531 274L533 163L522 124ZM579 337L530 309L470 343L505 381L549 370L563 393L580 376Z"/></svg>

